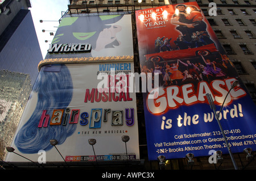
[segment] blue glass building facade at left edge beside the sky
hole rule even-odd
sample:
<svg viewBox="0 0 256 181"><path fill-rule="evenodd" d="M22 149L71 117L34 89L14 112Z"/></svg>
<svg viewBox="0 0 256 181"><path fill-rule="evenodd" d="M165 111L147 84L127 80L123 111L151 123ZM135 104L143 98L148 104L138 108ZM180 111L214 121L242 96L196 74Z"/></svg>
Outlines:
<svg viewBox="0 0 256 181"><path fill-rule="evenodd" d="M19 10L0 36L0 69L29 74L33 85L41 60L43 57L31 12Z"/></svg>

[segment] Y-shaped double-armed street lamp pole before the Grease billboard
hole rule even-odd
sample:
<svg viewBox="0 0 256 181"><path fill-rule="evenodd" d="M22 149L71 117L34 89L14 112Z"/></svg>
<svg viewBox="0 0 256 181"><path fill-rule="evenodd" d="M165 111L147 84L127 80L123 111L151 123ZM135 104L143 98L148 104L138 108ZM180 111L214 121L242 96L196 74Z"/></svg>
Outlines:
<svg viewBox="0 0 256 181"><path fill-rule="evenodd" d="M233 165L234 165L234 169L235 169L235 170L238 170L237 163L236 163L236 161L235 161L235 159L234 159L234 156L233 156L233 154L232 154L232 151L230 150L228 140L226 140L226 136L225 136L225 133L224 133L224 131L223 131L222 125L221 125L221 123L220 123L219 117L220 117L220 113L221 113L221 111L222 111L222 108L223 108L223 106L224 106L225 100L226 100L227 96L229 95L229 92L230 92L232 89L234 89L234 87L236 87L236 86L238 85L238 83L239 83L238 81L234 81L234 82L233 82L232 87L231 87L230 90L228 91L228 94L226 94L226 97L225 97L225 99L224 99L224 102L223 102L222 105L221 105L221 109L220 109L220 111L218 112L218 114L216 113L216 107L214 106L214 103L213 103L213 100L212 100L212 96L211 96L209 93L206 94L207 99L208 99L208 102L209 102L209 104L210 104L210 108L213 110L215 119L217 120L218 126L220 127L222 136L223 136L224 141L225 141L225 144L226 144L226 148L228 148L229 155L230 155L230 157L231 157L231 159L232 159L232 162L233 162Z"/></svg>

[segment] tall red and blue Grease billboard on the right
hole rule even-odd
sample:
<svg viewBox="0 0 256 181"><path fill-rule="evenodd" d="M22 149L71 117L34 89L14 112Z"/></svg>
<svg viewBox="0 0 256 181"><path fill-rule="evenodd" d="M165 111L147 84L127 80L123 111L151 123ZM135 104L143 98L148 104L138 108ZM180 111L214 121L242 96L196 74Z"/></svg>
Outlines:
<svg viewBox="0 0 256 181"><path fill-rule="evenodd" d="M149 159L228 153L206 94L218 111L236 80L220 122L234 153L255 149L255 105L197 3L138 10L136 22L141 71L159 76L143 93Z"/></svg>

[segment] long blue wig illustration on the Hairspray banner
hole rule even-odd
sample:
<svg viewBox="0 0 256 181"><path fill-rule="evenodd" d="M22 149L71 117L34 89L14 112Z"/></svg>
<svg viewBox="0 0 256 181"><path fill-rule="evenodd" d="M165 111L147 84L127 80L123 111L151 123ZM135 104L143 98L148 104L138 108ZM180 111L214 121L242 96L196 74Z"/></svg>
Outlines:
<svg viewBox="0 0 256 181"><path fill-rule="evenodd" d="M35 111L14 140L18 150L27 154L52 149L53 146L49 142L51 139L63 144L76 130L76 124L49 125L48 123L46 128L38 127L43 110L47 110L47 114L51 116L53 110L65 110L71 102L73 84L67 66L57 64L43 66L32 91L38 94Z"/></svg>

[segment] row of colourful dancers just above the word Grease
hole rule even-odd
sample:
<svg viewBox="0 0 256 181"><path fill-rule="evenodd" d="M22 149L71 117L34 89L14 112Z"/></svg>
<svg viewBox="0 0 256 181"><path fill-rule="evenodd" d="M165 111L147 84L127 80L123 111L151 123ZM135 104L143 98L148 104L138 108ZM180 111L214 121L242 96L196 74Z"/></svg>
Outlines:
<svg viewBox="0 0 256 181"><path fill-rule="evenodd" d="M210 56L212 57L212 56ZM221 58L210 58L201 55L201 60L175 60L170 62L163 61L161 63L152 60L141 67L141 72L159 73L159 83L161 86L184 85L186 83L196 83L200 81L210 82L213 79L223 79L236 75L232 62L226 54L220 54Z"/></svg>

